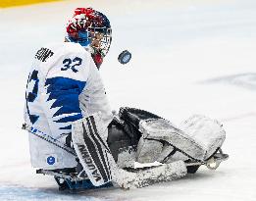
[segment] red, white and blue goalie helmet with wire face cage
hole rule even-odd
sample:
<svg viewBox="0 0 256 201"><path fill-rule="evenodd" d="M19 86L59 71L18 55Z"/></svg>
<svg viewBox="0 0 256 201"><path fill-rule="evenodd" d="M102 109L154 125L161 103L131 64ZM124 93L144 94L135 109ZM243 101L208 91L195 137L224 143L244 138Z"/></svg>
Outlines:
<svg viewBox="0 0 256 201"><path fill-rule="evenodd" d="M66 41L79 43L88 49L99 69L107 55L112 29L108 18L92 8L77 8L67 25Z"/></svg>

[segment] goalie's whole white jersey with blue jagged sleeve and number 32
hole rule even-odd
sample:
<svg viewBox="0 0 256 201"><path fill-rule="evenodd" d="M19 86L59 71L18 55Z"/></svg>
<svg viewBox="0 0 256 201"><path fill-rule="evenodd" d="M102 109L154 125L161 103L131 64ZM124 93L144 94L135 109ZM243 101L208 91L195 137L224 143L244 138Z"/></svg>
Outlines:
<svg viewBox="0 0 256 201"><path fill-rule="evenodd" d="M101 112L107 133L113 117L90 53L71 42L40 48L26 84L26 125L65 143L72 123L95 112ZM34 168L51 170L77 166L72 154L31 133L29 148Z"/></svg>

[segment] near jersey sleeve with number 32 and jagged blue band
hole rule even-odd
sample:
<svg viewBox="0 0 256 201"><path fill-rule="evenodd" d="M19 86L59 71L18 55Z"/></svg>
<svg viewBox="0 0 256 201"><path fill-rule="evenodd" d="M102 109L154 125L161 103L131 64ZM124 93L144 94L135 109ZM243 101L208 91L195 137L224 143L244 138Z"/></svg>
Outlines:
<svg viewBox="0 0 256 201"><path fill-rule="evenodd" d="M55 138L70 134L72 122L82 118L78 96L89 75L89 55L68 51L53 60L45 76L44 111Z"/></svg>

